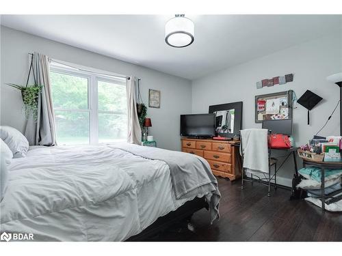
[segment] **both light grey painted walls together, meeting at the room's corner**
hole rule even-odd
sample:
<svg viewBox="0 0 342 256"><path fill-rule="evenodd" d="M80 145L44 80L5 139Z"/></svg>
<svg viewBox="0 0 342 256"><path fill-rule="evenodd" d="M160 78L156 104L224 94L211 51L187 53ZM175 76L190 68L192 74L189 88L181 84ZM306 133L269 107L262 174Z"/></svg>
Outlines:
<svg viewBox="0 0 342 256"><path fill-rule="evenodd" d="M339 88L326 81L326 76L342 70L341 35L330 35L254 59L233 68L215 72L192 82L118 59L98 55L7 27L1 27L1 124L23 130L25 120L21 112L21 96L4 83L25 83L29 56L38 51L52 58L83 66L107 70L142 79L142 97L148 103L148 89L161 90L161 109L148 108L159 147L180 150L179 115L207 113L211 104L243 101L243 127L260 127L254 123L254 96L293 89L300 97L310 89L324 101L313 109L311 125L306 125L306 110L293 110L293 135L296 145L302 145L324 124L337 100ZM294 81L286 85L257 89L261 79L294 73ZM322 135L339 134L339 110L334 114ZM293 165L290 162L280 172L279 181L289 185Z"/></svg>

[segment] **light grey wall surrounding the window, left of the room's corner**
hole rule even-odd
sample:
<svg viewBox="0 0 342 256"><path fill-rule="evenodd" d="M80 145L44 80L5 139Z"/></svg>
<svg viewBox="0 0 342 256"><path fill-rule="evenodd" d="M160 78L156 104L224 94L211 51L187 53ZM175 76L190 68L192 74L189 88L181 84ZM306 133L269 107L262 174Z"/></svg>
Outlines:
<svg viewBox="0 0 342 256"><path fill-rule="evenodd" d="M181 150L179 115L192 111L192 88L189 80L3 26L1 27L1 125L24 130L25 119L21 111L21 95L5 83L25 83L29 67L28 53L34 51L62 61L137 76L142 79L141 93L146 105L148 105L148 89L160 90L161 108L148 108L148 117L152 119L153 124L153 127L149 128L149 133L154 135L158 147Z"/></svg>

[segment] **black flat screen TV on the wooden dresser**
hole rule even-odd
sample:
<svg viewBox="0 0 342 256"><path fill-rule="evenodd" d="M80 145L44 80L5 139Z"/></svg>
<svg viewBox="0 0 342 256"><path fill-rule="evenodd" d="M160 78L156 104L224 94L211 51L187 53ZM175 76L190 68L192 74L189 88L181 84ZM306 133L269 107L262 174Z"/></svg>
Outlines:
<svg viewBox="0 0 342 256"><path fill-rule="evenodd" d="M181 115L181 136L185 137L214 137L215 115L193 114Z"/></svg>

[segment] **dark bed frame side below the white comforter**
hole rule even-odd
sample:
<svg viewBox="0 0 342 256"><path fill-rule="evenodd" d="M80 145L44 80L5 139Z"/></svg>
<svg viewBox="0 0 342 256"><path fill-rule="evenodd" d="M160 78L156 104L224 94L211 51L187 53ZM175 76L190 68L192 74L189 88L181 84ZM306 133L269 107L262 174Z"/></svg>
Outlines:
<svg viewBox="0 0 342 256"><path fill-rule="evenodd" d="M208 203L205 201L205 197L198 198L195 197L192 201L187 201L183 204L180 208L173 212L169 212L165 216L161 216L157 218L150 226L146 227L142 232L138 233L135 236L131 236L127 239L127 242L137 242L137 241L144 241L146 238L150 238L151 236L155 236L155 234L159 233L174 225L179 221L184 219L191 219L192 214L201 210L202 208L206 208L208 210Z"/></svg>

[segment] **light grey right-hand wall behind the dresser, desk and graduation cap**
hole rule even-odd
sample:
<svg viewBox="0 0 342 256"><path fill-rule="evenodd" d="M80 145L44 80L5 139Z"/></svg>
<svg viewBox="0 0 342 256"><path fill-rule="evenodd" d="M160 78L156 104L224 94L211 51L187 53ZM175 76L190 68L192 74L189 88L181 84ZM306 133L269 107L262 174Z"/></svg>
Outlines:
<svg viewBox="0 0 342 256"><path fill-rule="evenodd" d="M324 100L311 112L309 126L306 124L306 109L298 105L298 109L293 110L295 145L302 145L324 125L339 100L339 87L326 81L326 76L337 72L342 72L341 34L299 44L192 81L192 111L207 113L209 105L243 101L243 128L261 128L261 124L254 122L254 96L293 89L299 98L309 89ZM289 73L294 74L292 83L262 89L256 87L255 83L261 79ZM339 134L339 126L337 109L321 135ZM292 170L291 162L279 176L291 178ZM291 184L281 178L279 182Z"/></svg>

